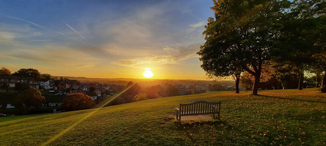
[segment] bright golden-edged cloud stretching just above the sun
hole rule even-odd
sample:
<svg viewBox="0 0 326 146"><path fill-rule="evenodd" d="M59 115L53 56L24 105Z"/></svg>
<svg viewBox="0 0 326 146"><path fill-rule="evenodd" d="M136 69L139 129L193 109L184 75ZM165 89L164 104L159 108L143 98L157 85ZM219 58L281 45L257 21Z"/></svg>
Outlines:
<svg viewBox="0 0 326 146"><path fill-rule="evenodd" d="M163 50L166 51L166 54L156 55L155 57L119 60L114 62L113 64L126 66L126 67L142 67L142 66L151 66L151 65L176 64L179 61L188 58L198 57L196 53L199 51L199 49L200 49L200 44L178 46L176 48L163 46Z"/></svg>

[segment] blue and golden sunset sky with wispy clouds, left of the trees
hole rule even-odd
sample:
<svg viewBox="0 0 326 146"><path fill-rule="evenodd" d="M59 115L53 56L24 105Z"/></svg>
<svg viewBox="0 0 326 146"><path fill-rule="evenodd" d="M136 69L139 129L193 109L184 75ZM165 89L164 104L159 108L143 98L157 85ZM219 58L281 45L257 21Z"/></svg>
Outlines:
<svg viewBox="0 0 326 146"><path fill-rule="evenodd" d="M207 79L211 0L0 1L0 67L53 76Z"/></svg>

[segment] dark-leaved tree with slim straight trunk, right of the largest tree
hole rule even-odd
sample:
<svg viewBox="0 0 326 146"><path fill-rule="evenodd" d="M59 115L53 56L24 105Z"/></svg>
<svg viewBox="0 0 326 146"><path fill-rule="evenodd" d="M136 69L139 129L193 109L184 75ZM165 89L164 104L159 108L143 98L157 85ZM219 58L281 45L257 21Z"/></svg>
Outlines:
<svg viewBox="0 0 326 146"><path fill-rule="evenodd" d="M321 38L321 16L325 2L321 0L295 0L289 13L282 20L283 28L276 41L280 56L275 62L291 64L299 78L298 89L302 90L304 71L314 63L312 55L321 51L316 44Z"/></svg>

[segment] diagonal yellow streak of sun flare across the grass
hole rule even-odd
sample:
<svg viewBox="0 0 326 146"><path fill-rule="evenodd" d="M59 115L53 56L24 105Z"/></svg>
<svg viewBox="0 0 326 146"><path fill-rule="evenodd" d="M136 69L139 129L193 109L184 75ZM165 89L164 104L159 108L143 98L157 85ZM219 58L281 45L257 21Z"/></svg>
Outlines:
<svg viewBox="0 0 326 146"><path fill-rule="evenodd" d="M120 92L118 95L114 96L111 100L109 100L108 102L106 102L105 104L103 104L102 106L100 106L99 108L96 108L94 111L92 111L88 115L82 117L76 123L72 124L71 126L69 126L68 128L66 128L65 130L63 130L60 133L58 133L57 135L53 136L52 139L50 139L48 141L45 141L41 145L42 146L49 145L52 141L58 139L59 137L61 137L62 135L64 135L66 132L68 132L70 129L74 128L76 125L80 124L82 121L84 121L85 119L87 119L89 116L91 116L94 113L96 113L100 108L104 107L105 105L109 104L111 101L113 101L114 99L116 99L117 97L119 97L122 93L124 93L125 91L127 91L130 87L132 87L136 83L137 83L137 81L135 83L133 83L131 86L127 87L124 91Z"/></svg>

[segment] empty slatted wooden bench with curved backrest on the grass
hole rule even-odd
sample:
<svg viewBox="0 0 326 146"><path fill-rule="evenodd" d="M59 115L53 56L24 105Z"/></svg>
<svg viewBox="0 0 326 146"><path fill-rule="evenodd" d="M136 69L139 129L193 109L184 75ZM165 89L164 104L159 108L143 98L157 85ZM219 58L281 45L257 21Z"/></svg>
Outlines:
<svg viewBox="0 0 326 146"><path fill-rule="evenodd" d="M181 123L181 116L213 114L214 119L216 119L215 114L217 114L218 119L220 119L220 108L221 108L221 102L197 101L188 104L180 103L180 107L175 108L175 113L176 113L177 120L179 120L180 123Z"/></svg>

